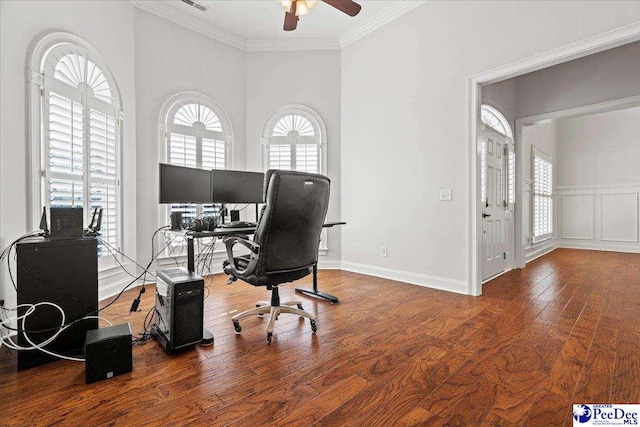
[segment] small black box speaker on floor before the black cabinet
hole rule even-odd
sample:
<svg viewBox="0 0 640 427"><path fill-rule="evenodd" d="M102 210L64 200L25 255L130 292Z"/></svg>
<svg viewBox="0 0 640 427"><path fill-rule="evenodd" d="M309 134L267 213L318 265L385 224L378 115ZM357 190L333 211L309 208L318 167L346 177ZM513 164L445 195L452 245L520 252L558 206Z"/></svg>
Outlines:
<svg viewBox="0 0 640 427"><path fill-rule="evenodd" d="M131 372L131 327L128 323L123 323L87 331L84 351L87 384Z"/></svg>

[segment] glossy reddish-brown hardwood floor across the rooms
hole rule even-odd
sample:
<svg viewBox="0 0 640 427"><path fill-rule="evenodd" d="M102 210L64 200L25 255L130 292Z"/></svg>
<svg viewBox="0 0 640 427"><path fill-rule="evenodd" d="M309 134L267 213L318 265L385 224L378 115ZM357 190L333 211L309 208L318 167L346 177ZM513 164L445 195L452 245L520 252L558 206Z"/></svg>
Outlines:
<svg viewBox="0 0 640 427"><path fill-rule="evenodd" d="M473 298L341 271L320 271L341 303L294 295L318 315L266 319L236 310L265 288L210 278L213 347L167 355L134 347L134 371L86 385L80 363L15 372L0 356L0 425L571 425L572 403L640 402L640 254L558 249L485 284ZM300 281L308 284L310 278ZM300 285L300 283L296 283ZM153 304L107 312L141 329Z"/></svg>

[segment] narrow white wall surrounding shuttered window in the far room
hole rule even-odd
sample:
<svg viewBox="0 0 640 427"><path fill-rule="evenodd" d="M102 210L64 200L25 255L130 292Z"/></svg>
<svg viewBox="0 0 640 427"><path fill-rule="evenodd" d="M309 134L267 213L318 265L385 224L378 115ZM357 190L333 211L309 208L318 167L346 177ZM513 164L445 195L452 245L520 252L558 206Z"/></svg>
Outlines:
<svg viewBox="0 0 640 427"><path fill-rule="evenodd" d="M532 233L532 212L531 207L533 203L533 167L532 167L532 148L548 154L551 156L551 164L553 165L553 187L557 182L557 124L555 122L544 123L532 126L526 126L522 128L522 142L520 144L522 150L524 150L524 192L523 192L523 211L522 211L522 224L523 233L522 237L525 243L525 261L529 261L532 258L548 251L555 245L555 239L557 236L557 227L554 227L553 236L551 240L533 243Z"/></svg>

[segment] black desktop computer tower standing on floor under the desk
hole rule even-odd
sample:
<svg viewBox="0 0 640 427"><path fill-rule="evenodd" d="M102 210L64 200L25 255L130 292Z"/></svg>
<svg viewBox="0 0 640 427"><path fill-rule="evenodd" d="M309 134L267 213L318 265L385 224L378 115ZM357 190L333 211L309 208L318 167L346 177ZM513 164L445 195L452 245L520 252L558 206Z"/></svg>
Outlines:
<svg viewBox="0 0 640 427"><path fill-rule="evenodd" d="M204 279L184 267L156 274L155 322L151 333L166 351L202 340Z"/></svg>

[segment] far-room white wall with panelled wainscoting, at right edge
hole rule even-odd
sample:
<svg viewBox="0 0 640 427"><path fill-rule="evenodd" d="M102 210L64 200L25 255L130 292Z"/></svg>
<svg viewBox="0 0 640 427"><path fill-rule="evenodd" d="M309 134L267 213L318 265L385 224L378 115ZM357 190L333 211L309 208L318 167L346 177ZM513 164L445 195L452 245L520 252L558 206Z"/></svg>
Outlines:
<svg viewBox="0 0 640 427"><path fill-rule="evenodd" d="M640 252L640 107L558 121L559 245Z"/></svg>

